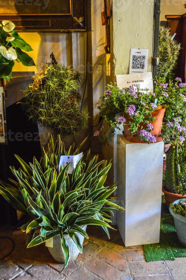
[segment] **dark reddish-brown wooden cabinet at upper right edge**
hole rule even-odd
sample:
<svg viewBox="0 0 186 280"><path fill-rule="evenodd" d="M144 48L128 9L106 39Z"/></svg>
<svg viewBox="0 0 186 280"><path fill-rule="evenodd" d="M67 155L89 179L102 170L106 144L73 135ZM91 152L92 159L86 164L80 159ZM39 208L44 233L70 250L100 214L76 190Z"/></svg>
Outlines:
<svg viewBox="0 0 186 280"><path fill-rule="evenodd" d="M183 15L166 15L168 27L173 35L176 33L175 40L181 43L180 57L178 60L177 77L181 77L183 82L186 81L186 13Z"/></svg>

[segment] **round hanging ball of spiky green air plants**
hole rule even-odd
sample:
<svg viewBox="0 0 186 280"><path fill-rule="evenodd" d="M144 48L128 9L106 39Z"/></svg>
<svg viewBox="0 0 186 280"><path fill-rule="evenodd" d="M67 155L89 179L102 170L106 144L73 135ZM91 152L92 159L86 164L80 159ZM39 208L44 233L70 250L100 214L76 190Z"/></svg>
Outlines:
<svg viewBox="0 0 186 280"><path fill-rule="evenodd" d="M88 114L79 107L79 81L80 75L63 65L45 65L25 91L23 104L29 117L62 136L84 129Z"/></svg>

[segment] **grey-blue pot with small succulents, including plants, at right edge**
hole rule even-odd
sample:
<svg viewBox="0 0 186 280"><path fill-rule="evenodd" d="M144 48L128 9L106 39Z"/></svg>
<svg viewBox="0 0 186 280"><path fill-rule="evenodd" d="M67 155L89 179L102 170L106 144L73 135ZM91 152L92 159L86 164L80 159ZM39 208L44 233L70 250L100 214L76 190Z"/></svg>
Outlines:
<svg viewBox="0 0 186 280"><path fill-rule="evenodd" d="M170 204L169 211L174 217L174 224L179 242L186 247L186 198L178 199Z"/></svg>

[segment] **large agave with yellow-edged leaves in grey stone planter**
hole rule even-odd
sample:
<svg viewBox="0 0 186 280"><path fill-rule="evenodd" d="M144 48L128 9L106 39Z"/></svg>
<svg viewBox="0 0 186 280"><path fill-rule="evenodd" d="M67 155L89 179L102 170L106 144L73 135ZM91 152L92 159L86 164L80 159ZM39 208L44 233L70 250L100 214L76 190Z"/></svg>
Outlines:
<svg viewBox="0 0 186 280"><path fill-rule="evenodd" d="M58 170L58 162L62 154L72 153L72 147L66 152L60 138L54 145L50 137L48 148L40 162L34 158L29 165L16 156L21 165L19 170L11 167L16 181L10 179L12 185L1 181L0 193L30 217L22 227L29 234L27 247L53 238L53 248L48 249L65 268L82 253L84 237L88 238L86 226L99 225L109 237L110 214L123 208L108 199L116 187L104 186L111 164L98 162L98 156L90 159L89 150L68 174L69 164Z"/></svg>

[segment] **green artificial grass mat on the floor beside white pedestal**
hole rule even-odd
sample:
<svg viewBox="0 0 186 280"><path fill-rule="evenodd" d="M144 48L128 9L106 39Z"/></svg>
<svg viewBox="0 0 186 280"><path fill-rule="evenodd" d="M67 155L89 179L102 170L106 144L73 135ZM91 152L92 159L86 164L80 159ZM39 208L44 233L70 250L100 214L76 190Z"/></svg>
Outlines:
<svg viewBox="0 0 186 280"><path fill-rule="evenodd" d="M175 258L186 257L186 248L177 238L173 216L162 198L160 242L143 245L146 261L175 260Z"/></svg>

